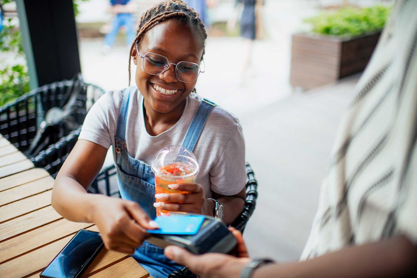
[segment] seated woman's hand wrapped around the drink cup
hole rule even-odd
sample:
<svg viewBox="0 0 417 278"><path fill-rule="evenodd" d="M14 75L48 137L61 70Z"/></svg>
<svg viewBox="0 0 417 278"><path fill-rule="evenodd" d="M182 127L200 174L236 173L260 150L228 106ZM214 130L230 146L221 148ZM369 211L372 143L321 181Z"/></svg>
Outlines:
<svg viewBox="0 0 417 278"><path fill-rule="evenodd" d="M155 194L155 198L159 200L159 202L153 204L155 208L213 216L214 203L206 199L201 184L176 183L168 185L168 188L188 193Z"/></svg>

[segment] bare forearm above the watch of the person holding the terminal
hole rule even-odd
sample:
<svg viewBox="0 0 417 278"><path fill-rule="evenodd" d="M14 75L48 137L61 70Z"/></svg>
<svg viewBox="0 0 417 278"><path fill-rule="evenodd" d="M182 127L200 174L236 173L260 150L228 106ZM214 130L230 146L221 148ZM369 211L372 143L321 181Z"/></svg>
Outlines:
<svg viewBox="0 0 417 278"><path fill-rule="evenodd" d="M417 247L404 235L376 243L351 246L312 260L266 265L257 277L415 277Z"/></svg>

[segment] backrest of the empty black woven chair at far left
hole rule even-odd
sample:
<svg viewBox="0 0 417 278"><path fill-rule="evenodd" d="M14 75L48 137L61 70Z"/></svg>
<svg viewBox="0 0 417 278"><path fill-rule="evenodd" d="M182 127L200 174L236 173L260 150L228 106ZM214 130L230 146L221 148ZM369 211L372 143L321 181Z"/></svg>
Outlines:
<svg viewBox="0 0 417 278"><path fill-rule="evenodd" d="M32 158L40 150L48 148L82 125L88 109L98 99L98 95L103 93L103 89L84 83L80 74L71 80L62 80L31 90L0 108L0 133L22 152L27 151L32 144L31 148L36 151L27 155ZM74 128L65 128L65 132L59 135L54 132L47 140L39 134L36 137L41 129L40 122L45 120L45 115L51 108L69 109L68 114L74 122L71 126ZM42 140L39 144L42 145L41 148L33 145L35 139Z"/></svg>

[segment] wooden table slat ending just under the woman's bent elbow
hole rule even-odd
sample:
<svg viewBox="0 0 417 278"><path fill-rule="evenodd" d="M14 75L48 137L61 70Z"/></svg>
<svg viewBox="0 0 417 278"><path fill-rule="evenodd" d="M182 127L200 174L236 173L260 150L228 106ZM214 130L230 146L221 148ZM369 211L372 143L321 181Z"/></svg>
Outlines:
<svg viewBox="0 0 417 278"><path fill-rule="evenodd" d="M62 216L51 205L48 205L45 208L35 210L19 218L3 222L0 224L0 231L2 231L0 234L0 242L61 218Z"/></svg>

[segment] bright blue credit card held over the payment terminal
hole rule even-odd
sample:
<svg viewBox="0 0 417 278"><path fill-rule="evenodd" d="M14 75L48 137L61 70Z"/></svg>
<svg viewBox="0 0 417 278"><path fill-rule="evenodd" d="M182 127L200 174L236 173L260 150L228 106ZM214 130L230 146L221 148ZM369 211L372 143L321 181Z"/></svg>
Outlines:
<svg viewBox="0 0 417 278"><path fill-rule="evenodd" d="M170 214L155 218L159 230L148 230L148 233L168 235L195 235L203 223L204 215Z"/></svg>

